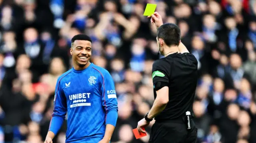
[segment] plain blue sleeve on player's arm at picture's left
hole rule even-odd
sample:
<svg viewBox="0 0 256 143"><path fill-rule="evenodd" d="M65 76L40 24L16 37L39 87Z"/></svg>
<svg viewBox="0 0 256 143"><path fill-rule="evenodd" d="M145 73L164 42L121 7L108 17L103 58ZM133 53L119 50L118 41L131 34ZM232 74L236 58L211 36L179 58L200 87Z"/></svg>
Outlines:
<svg viewBox="0 0 256 143"><path fill-rule="evenodd" d="M54 97L54 110L52 114L52 119L50 122L49 131L52 131L55 135L58 133L62 123L65 119L67 112L66 98L62 92L60 86L61 77L58 78L55 88L55 97Z"/></svg>

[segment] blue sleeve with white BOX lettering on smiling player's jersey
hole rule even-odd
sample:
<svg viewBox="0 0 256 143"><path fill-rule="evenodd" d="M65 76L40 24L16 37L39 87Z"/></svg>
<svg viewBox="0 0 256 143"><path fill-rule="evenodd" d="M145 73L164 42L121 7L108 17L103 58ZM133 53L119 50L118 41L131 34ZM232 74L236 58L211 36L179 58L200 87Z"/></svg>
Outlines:
<svg viewBox="0 0 256 143"><path fill-rule="evenodd" d="M116 126L118 118L118 103L114 80L109 72L105 72L102 81L102 106L106 110L106 124Z"/></svg>

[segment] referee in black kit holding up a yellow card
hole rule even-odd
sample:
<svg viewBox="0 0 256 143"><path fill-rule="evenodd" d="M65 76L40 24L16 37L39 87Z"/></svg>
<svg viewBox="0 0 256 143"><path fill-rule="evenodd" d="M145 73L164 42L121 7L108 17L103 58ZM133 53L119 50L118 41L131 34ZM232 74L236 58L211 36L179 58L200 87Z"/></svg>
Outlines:
<svg viewBox="0 0 256 143"><path fill-rule="evenodd" d="M181 43L177 25L163 24L157 12L150 17L157 28L159 52L165 57L153 64L155 101L151 110L138 122L138 131L145 133L142 127L154 118L149 143L196 143L197 128L192 119L192 105L198 62Z"/></svg>

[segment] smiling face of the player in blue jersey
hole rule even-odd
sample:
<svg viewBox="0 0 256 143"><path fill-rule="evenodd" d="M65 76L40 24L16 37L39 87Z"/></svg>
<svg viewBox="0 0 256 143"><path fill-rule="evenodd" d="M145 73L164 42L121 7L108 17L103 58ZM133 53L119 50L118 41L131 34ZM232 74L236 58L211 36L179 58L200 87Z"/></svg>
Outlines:
<svg viewBox="0 0 256 143"><path fill-rule="evenodd" d="M80 68L86 68L90 64L92 55L92 43L85 40L76 40L70 48L73 65L76 64Z"/></svg>

